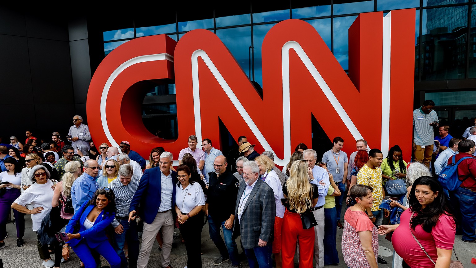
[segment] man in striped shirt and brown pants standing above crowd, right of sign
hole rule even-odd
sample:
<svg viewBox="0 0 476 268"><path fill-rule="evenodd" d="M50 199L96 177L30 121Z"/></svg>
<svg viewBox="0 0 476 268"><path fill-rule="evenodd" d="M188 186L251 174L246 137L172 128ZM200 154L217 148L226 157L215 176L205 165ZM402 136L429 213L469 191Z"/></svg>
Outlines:
<svg viewBox="0 0 476 268"><path fill-rule="evenodd" d="M415 162L420 162L430 168L431 155L433 154L433 128L438 127L435 103L426 100L423 105L413 111L413 150Z"/></svg>

